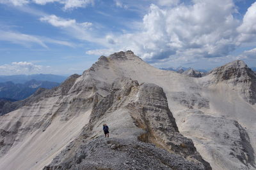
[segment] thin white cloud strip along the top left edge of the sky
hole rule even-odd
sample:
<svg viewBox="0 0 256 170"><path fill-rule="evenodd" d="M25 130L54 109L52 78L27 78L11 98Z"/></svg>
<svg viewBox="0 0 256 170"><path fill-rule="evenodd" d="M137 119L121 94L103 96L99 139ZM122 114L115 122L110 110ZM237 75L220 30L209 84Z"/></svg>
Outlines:
<svg viewBox="0 0 256 170"><path fill-rule="evenodd" d="M22 6L24 4L35 3L45 5L47 3L63 4L64 10L72 10L73 8L86 7L94 4L94 0L0 0L2 4L13 4L14 6Z"/></svg>

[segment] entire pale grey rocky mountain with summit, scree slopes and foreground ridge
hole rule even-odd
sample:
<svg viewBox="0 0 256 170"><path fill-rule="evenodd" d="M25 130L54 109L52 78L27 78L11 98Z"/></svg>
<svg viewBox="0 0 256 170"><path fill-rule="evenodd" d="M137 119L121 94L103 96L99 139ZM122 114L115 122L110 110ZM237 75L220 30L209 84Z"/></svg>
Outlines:
<svg viewBox="0 0 256 170"><path fill-rule="evenodd" d="M101 56L0 117L0 169L255 169L254 87L239 60L194 78Z"/></svg>

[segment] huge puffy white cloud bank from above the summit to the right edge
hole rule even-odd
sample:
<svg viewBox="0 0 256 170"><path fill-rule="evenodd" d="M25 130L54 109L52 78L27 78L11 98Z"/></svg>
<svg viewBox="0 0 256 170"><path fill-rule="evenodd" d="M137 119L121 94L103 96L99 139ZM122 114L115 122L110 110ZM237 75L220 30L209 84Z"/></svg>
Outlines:
<svg viewBox="0 0 256 170"><path fill-rule="evenodd" d="M234 17L237 7L232 0L176 2L176 6L164 7L151 4L139 31L107 34L106 48L87 53L132 50L150 63L188 63L227 58L243 43L255 39L256 3L241 21Z"/></svg>

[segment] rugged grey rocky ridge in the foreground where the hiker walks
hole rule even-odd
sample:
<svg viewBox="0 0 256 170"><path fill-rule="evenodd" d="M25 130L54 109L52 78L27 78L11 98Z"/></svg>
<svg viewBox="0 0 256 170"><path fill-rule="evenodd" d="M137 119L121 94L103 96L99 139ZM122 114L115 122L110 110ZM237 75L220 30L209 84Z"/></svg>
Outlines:
<svg viewBox="0 0 256 170"><path fill-rule="evenodd" d="M129 120L119 120L122 126L116 129L118 135L111 139L97 135L97 125L101 125L104 117L111 114L118 117L123 111L134 121L132 125L122 122ZM125 137L122 136L124 131ZM115 131L111 131L112 134ZM163 89L154 84L138 85L137 81L122 79L113 83L108 96L94 100L90 124L44 169L127 167L211 169L196 152L191 139L179 133Z"/></svg>

